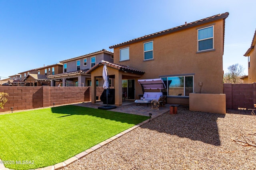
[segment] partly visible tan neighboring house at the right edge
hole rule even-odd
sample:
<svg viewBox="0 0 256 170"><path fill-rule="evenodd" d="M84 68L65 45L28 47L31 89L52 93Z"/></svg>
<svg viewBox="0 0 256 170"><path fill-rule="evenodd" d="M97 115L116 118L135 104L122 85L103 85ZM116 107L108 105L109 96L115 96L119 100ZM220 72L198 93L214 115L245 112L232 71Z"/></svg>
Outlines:
<svg viewBox="0 0 256 170"><path fill-rule="evenodd" d="M254 36L252 38L251 47L244 54L245 57L248 57L248 76L243 76L241 79L244 83L253 83L256 82L256 51L254 50L254 46L256 44L256 29L254 32Z"/></svg>

